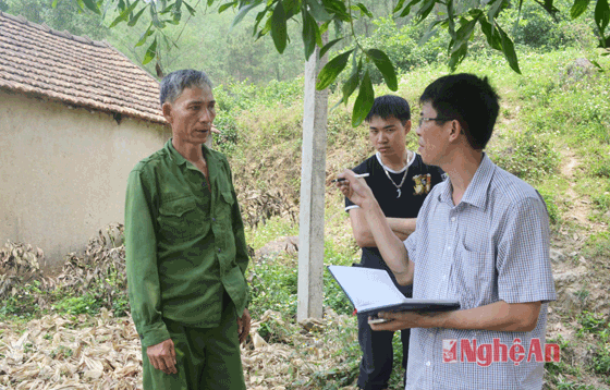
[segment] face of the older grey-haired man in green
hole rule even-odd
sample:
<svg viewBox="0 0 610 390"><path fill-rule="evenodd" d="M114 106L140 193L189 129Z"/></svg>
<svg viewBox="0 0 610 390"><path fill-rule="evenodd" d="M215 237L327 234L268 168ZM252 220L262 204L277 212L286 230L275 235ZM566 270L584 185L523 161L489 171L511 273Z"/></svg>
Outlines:
<svg viewBox="0 0 610 390"><path fill-rule="evenodd" d="M209 86L184 88L173 103L163 105L163 117L180 143L204 144L216 118L216 100Z"/></svg>

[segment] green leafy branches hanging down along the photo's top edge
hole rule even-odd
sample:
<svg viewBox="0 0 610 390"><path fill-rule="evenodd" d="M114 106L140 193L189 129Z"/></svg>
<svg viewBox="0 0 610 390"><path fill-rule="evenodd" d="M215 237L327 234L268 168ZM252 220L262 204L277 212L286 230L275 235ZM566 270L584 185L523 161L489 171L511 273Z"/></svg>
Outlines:
<svg viewBox="0 0 610 390"><path fill-rule="evenodd" d="M150 14L150 22L142 35L138 44L147 42L147 50L143 63L150 62L158 56L162 40L167 40L163 34L168 25L179 25L183 13L195 14L195 8L200 3L191 4L194 0L73 0L82 9L89 9L98 14L106 14L108 10L114 10L117 16L110 27L120 23L130 26L137 24L144 12ZM374 15L363 2L357 0L207 0L206 5L217 5L219 12L229 9L236 10L233 25L240 23L248 13L256 13L253 35L256 39L270 36L278 52L283 53L289 42L289 22L300 23L302 27L301 38L305 58L308 59L314 52L316 45L321 47L320 56L332 46L351 36L353 41L345 47L346 50L339 52L331 59L318 74L317 88L324 89L332 84L337 76L352 61L352 73L343 83L343 102L358 89L354 103L352 122L359 124L369 111L373 99L373 81L370 71L363 64L374 64L381 73L386 84L391 90L396 90L398 81L392 61L386 52L363 46L361 37L356 34L358 21L373 20ZM53 0L56 4L58 0ZM557 17L560 10L553 0L534 0L551 16ZM599 46L610 47L610 34L606 35L610 23L610 7L608 0L574 0L570 10L572 19L581 16L588 8L594 5L594 21ZM388 5L386 1L383 4ZM521 13L524 0L517 0L517 9ZM371 3L369 3L370 5ZM449 66L455 70L468 52L468 44L478 27L485 35L487 44L492 49L501 51L510 68L521 73L514 44L509 34L510 26L502 26L498 16L510 7L510 0L398 0L392 9L392 14L399 19L415 19L417 22L428 23L427 38L437 29L444 29L449 37L448 53ZM102 11L103 10L103 11ZM322 47L321 34L331 25L340 34ZM366 23L364 24L366 26ZM366 27L365 27L366 29ZM365 33L366 34L366 33ZM167 46L170 46L167 44Z"/></svg>

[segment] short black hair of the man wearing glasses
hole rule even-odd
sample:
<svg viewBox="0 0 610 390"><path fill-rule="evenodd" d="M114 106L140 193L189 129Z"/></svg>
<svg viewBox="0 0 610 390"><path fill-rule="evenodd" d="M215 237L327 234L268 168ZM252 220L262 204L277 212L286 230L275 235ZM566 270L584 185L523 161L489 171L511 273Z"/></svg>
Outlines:
<svg viewBox="0 0 610 390"><path fill-rule="evenodd" d="M483 150L498 119L499 100L487 77L460 73L442 76L428 85L419 103L431 103L438 118L457 120L468 144Z"/></svg>

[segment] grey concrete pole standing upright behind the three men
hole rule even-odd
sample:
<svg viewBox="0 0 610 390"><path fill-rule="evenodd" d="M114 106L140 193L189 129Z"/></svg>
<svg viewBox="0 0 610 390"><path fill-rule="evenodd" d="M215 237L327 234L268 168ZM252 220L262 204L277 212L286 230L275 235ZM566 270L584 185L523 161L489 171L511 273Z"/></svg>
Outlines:
<svg viewBox="0 0 610 390"><path fill-rule="evenodd" d="M322 41L328 40L327 34ZM326 127L328 88L316 90L316 78L327 62L319 48L305 63L303 162L298 224L298 304L296 320L322 318L324 211L326 186Z"/></svg>

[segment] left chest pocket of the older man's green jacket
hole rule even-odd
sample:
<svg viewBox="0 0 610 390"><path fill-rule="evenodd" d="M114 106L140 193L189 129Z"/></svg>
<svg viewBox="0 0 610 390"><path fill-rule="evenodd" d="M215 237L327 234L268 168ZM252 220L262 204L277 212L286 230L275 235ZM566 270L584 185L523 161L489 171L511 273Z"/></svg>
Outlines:
<svg viewBox="0 0 610 390"><path fill-rule="evenodd" d="M206 216L195 197L162 203L159 207L159 233L163 241L185 242L206 233Z"/></svg>

